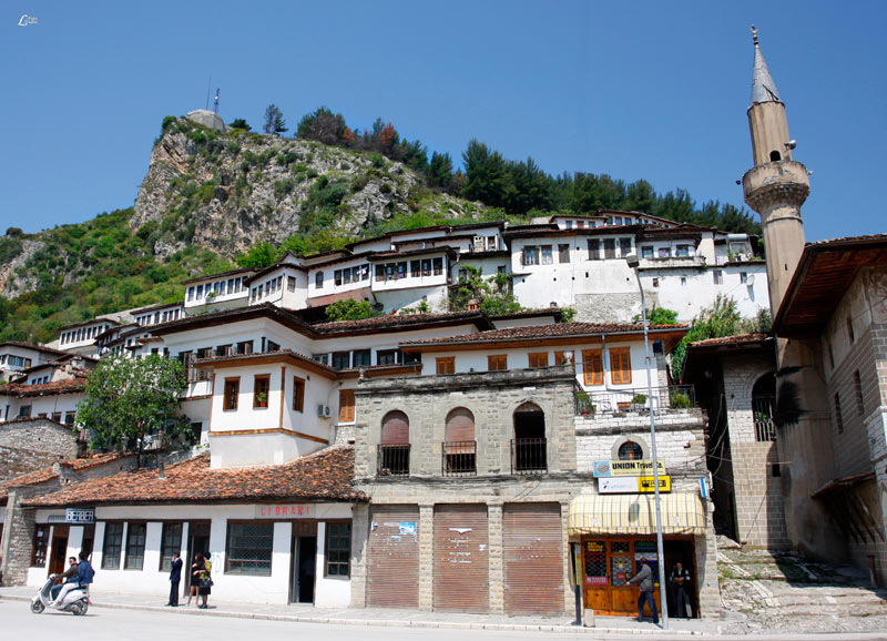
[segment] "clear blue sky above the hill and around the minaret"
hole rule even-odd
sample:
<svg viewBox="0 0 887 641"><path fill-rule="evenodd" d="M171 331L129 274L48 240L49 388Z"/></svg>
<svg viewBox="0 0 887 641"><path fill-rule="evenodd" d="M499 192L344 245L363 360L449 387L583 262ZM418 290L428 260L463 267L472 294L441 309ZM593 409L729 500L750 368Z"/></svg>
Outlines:
<svg viewBox="0 0 887 641"><path fill-rule="evenodd" d="M20 27L22 14L35 24ZM742 205L755 23L814 172L808 241L887 232L887 3L8 0L0 233L130 206L164 115L290 129L327 105L459 159L471 138L550 173Z"/></svg>

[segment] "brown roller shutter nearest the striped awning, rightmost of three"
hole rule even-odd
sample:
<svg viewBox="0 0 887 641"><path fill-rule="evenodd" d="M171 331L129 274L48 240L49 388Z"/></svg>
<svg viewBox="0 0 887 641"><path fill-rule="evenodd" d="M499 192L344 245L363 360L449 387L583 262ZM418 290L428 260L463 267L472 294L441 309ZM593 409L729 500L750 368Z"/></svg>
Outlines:
<svg viewBox="0 0 887 641"><path fill-rule="evenodd" d="M507 614L564 613L559 503L506 503L502 511Z"/></svg>

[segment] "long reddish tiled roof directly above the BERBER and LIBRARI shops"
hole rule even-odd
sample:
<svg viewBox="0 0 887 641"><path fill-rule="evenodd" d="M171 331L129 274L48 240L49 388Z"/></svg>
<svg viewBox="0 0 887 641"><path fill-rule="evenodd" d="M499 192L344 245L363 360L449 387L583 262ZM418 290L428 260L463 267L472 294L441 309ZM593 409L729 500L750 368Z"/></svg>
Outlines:
<svg viewBox="0 0 887 641"><path fill-rule="evenodd" d="M22 505L58 507L154 502L248 502L265 500L366 500L351 487L354 448L329 447L286 465L210 469L203 454L166 468L124 471L64 490L35 497Z"/></svg>

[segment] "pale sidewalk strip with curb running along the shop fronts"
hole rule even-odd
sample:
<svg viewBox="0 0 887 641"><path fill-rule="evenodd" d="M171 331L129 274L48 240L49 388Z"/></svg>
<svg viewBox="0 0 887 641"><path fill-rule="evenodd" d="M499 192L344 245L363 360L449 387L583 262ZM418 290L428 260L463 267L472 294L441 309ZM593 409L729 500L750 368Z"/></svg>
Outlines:
<svg viewBox="0 0 887 641"><path fill-rule="evenodd" d="M0 600L9 601L30 601L29 597L18 594L2 594ZM387 620L387 619L343 619L339 617L300 617L288 614L262 614L257 612L238 612L235 610L185 610L180 608L165 608L159 606L129 606L125 603L103 603L91 601L92 608L108 608L109 610L144 610L149 612L167 612L170 614L182 614L190 617L225 617L228 619L254 619L258 621L289 621L292 623L318 623L328 625L378 625L380 628L439 628L448 630L499 630L499 631L532 631L532 632L558 632L558 633L600 633L600 634L675 634L682 637L716 637L693 630L661 630L653 628L650 630L639 630L631 628L583 628L580 625L544 625L526 623L471 623L461 621L411 621L411 620Z"/></svg>

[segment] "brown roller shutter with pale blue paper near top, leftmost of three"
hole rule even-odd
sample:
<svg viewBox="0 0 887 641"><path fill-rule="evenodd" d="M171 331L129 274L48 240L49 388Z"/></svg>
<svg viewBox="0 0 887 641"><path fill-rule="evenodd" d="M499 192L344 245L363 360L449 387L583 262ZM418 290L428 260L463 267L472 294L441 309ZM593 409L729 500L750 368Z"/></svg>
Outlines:
<svg viewBox="0 0 887 641"><path fill-rule="evenodd" d="M415 533L409 533L415 528ZM419 607L419 508L377 506L370 512L367 606Z"/></svg>

